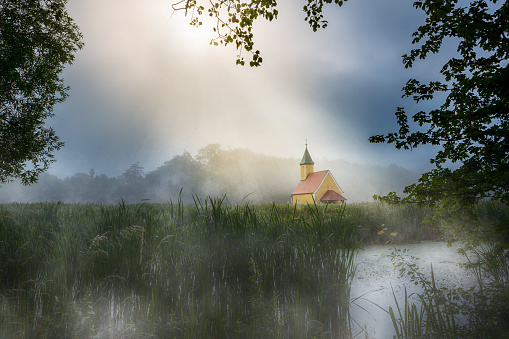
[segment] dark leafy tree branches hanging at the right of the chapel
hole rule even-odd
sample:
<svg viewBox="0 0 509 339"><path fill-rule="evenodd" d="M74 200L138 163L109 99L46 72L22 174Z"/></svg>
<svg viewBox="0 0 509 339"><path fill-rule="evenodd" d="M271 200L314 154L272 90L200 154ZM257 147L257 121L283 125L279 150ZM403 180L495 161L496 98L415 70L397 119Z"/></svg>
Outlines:
<svg viewBox="0 0 509 339"><path fill-rule="evenodd" d="M440 147L430 160L435 169L406 188L406 201L434 205L448 199L462 206L484 198L509 202L509 4L429 0L416 1L414 7L428 17L413 34L413 43L420 45L403 56L405 67L438 53L445 43L456 44L457 55L443 65L442 80L410 79L404 97L416 103L445 99L439 107L412 116L418 126L413 132L407 112L398 108L399 131L370 141L393 143L398 149ZM398 201L394 195L386 198Z"/></svg>

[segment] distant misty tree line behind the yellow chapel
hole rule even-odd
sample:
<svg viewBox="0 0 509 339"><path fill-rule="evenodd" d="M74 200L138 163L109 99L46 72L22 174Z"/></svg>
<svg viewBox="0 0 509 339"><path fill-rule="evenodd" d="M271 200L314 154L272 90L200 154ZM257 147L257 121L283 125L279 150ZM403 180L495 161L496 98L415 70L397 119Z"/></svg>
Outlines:
<svg viewBox="0 0 509 339"><path fill-rule="evenodd" d="M395 165L358 165L344 160L323 160L316 165L316 170L332 171L351 202L370 200L373 194L402 189L418 177L418 173ZM224 194L229 202L286 203L299 179L299 159L210 144L195 156L183 152L148 173L140 163L132 164L118 177L97 175L94 169L64 179L43 173L38 183L31 186L9 183L0 187L0 203L115 204L121 200L127 203L175 202L179 198L184 203L192 203L193 197Z"/></svg>

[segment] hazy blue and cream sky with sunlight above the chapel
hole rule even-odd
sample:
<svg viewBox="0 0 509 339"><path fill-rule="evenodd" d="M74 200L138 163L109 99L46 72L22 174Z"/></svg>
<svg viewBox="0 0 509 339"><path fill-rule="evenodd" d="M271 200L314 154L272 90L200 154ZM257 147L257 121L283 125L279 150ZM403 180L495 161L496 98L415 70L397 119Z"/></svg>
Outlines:
<svg viewBox="0 0 509 339"><path fill-rule="evenodd" d="M429 148L367 141L397 130L396 107L413 106L401 88L432 79L443 60L404 69L424 22L412 2L328 6L329 26L314 33L304 2L282 0L278 20L254 27L264 62L250 68L235 65L234 46L209 46L211 25L172 16L172 1L69 0L86 45L64 73L70 97L49 121L66 143L49 172L116 176L137 161L151 171L210 143L300 158L305 139L314 159L426 166Z"/></svg>

